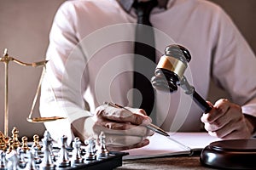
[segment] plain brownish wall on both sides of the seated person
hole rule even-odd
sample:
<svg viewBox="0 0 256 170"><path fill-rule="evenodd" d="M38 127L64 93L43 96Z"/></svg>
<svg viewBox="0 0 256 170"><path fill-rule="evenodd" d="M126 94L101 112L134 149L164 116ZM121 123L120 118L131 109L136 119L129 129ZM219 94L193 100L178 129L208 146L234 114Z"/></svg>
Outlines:
<svg viewBox="0 0 256 170"><path fill-rule="evenodd" d="M64 0L0 0L0 54L8 48L9 55L24 62L44 60L49 42L49 29L57 8ZM256 1L212 0L224 8L236 23L251 48L256 51ZM255 65L256 66L256 65ZM9 135L18 127L20 137L44 133L44 124L26 122L42 68L9 63ZM242 76L242 75L241 75ZM239 81L239 77L237 77ZM211 86L209 99L225 97L223 91ZM4 120L4 64L0 63L0 131ZM38 116L38 105L34 116ZM57 123L57 122L56 122Z"/></svg>

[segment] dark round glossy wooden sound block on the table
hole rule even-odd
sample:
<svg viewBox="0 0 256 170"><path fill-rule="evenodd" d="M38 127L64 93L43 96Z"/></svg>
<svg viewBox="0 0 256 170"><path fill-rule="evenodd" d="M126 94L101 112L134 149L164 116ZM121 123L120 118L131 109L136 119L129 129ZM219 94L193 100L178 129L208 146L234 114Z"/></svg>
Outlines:
<svg viewBox="0 0 256 170"><path fill-rule="evenodd" d="M256 169L256 139L212 142L201 151L200 161L207 167Z"/></svg>

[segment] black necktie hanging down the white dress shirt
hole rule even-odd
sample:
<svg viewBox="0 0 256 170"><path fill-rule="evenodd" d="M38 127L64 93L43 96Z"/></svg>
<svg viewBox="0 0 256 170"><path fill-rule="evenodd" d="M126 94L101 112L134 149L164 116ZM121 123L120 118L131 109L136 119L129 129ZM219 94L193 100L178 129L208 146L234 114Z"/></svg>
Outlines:
<svg viewBox="0 0 256 170"><path fill-rule="evenodd" d="M141 97L135 93L133 94L133 106L145 110L148 115L154 112L154 88L150 79L154 76L155 69L154 30L149 21L149 15L156 5L157 0L134 3L137 10L136 42L134 44L134 88L140 91L143 101L139 105ZM148 59L153 62L149 62Z"/></svg>

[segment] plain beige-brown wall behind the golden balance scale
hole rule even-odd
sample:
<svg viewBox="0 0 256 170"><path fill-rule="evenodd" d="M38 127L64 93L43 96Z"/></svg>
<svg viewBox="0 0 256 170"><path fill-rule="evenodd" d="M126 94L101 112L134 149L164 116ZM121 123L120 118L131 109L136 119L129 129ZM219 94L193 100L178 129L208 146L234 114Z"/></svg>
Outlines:
<svg viewBox="0 0 256 170"><path fill-rule="evenodd" d="M24 62L43 60L56 9L64 0L0 0L0 54ZM41 68L9 63L9 135L14 126L23 135L44 133L43 124L26 122L36 93ZM0 130L3 132L4 64L0 63ZM35 110L38 116L38 107Z"/></svg>

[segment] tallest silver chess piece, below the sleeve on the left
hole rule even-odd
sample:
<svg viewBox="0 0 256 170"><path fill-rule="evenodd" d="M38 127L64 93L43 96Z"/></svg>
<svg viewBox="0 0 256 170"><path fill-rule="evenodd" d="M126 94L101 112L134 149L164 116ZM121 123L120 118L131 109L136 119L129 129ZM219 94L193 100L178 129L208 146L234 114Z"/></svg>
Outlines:
<svg viewBox="0 0 256 170"><path fill-rule="evenodd" d="M52 139L50 138L48 131L44 132L44 139L42 139L42 142L43 142L43 148L44 148L44 158L42 160L42 163L40 164L40 169L44 169L44 170L55 169L53 157L51 156Z"/></svg>

